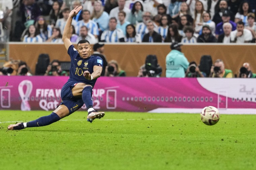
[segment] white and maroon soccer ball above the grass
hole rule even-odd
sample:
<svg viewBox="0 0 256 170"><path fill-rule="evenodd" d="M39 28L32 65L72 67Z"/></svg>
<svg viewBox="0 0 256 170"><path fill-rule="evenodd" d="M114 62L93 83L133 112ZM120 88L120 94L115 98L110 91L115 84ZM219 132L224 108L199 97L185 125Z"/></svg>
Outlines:
<svg viewBox="0 0 256 170"><path fill-rule="evenodd" d="M206 125L215 125L220 120L220 112L213 106L203 108L200 115L201 121Z"/></svg>

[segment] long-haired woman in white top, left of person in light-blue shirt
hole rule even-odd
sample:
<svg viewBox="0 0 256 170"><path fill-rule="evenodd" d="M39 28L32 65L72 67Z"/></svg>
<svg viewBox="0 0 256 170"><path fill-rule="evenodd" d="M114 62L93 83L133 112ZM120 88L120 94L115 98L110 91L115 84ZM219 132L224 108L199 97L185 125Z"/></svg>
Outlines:
<svg viewBox="0 0 256 170"><path fill-rule="evenodd" d="M199 31L202 28L203 24L203 3L201 1L196 1L195 3L195 18L194 18L194 28L195 28L195 33L199 33Z"/></svg>

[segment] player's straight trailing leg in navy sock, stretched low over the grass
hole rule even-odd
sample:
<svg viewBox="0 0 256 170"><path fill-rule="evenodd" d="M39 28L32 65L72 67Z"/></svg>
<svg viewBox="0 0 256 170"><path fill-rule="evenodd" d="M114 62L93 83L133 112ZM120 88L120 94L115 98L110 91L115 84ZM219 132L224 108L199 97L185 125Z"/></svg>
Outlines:
<svg viewBox="0 0 256 170"><path fill-rule="evenodd" d="M59 121L60 119L68 115L69 115L68 108L65 105L60 105L54 110L52 114L48 116L42 116L30 122L21 122L17 124L11 124L8 126L8 130L21 130L27 127L47 126L49 124Z"/></svg>

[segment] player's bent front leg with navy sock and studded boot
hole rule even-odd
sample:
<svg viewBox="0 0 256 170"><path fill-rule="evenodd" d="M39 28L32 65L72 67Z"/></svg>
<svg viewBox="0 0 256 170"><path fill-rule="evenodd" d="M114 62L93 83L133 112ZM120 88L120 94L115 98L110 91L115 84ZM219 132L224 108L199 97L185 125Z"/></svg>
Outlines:
<svg viewBox="0 0 256 170"><path fill-rule="evenodd" d="M86 108L88 109L88 116L87 121L91 122L94 119L100 119L102 118L105 113L104 112L98 112L97 110L93 109L93 101L92 101L92 86L84 83L77 83L74 88L72 89L72 94L74 97L81 97L83 99L83 102L86 105Z"/></svg>

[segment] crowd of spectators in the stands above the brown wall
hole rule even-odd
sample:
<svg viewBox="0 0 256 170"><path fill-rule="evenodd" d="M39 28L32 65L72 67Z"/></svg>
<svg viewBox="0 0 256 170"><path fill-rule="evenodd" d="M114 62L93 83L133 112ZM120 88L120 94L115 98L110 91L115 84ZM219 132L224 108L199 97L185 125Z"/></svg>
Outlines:
<svg viewBox="0 0 256 170"><path fill-rule="evenodd" d="M81 5L72 20L72 43L227 44L256 38L255 0L4 0L0 5L2 42L63 43L69 12Z"/></svg>

